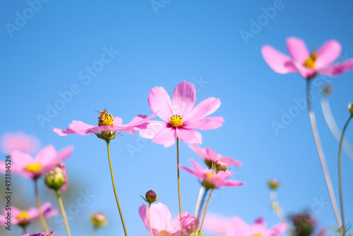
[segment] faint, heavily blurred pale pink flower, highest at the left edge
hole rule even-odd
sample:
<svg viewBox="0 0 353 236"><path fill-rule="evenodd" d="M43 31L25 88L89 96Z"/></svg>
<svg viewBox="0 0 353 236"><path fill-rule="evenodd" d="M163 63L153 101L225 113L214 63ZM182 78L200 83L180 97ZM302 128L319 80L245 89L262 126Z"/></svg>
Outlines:
<svg viewBox="0 0 353 236"><path fill-rule="evenodd" d="M6 133L1 136L1 149L5 153L18 150L24 153L35 153L40 148L40 141L35 136L23 132Z"/></svg>

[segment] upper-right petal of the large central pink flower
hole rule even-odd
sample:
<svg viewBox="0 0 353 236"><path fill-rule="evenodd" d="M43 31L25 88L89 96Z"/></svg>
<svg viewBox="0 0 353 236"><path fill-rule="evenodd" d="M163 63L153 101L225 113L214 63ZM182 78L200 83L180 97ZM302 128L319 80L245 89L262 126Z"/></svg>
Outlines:
<svg viewBox="0 0 353 236"><path fill-rule="evenodd" d="M185 120L201 119L213 114L218 108L220 108L220 98L207 98L202 102L198 103L193 110L186 114Z"/></svg>

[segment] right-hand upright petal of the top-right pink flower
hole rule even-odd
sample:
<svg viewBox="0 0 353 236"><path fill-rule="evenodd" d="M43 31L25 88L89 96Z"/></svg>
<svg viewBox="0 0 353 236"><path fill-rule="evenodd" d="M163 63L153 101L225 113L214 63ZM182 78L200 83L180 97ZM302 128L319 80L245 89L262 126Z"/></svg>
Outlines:
<svg viewBox="0 0 353 236"><path fill-rule="evenodd" d="M340 57L341 50L341 45L336 40L325 42L323 46L318 49L318 58L315 60L316 69L321 69L333 63L333 61Z"/></svg>

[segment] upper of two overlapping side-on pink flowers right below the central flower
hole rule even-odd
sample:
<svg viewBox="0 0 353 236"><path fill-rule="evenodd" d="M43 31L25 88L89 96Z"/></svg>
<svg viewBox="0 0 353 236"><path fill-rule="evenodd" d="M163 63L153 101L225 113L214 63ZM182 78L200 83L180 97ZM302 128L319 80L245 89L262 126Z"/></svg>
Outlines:
<svg viewBox="0 0 353 236"><path fill-rule="evenodd" d="M222 160L222 162L227 165L241 166L240 161L217 154L211 148L200 148L196 144L189 145L189 147L205 160L205 164L208 165L209 168L212 168L212 163L215 163L217 160Z"/></svg>

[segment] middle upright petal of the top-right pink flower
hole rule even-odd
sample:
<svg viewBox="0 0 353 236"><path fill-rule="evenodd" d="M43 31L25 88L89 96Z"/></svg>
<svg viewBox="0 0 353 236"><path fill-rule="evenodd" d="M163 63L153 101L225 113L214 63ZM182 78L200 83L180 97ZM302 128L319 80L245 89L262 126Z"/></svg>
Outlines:
<svg viewBox="0 0 353 236"><path fill-rule="evenodd" d="M297 37L287 38L287 50L289 54L301 64L304 64L306 59L310 57L305 42Z"/></svg>

